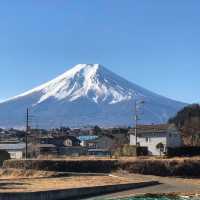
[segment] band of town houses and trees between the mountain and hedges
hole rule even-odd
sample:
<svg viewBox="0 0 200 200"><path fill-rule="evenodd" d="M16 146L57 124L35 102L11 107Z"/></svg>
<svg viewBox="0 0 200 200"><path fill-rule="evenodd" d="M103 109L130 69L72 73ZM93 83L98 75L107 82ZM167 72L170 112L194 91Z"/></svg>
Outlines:
<svg viewBox="0 0 200 200"><path fill-rule="evenodd" d="M137 124L132 128L0 129L0 153L8 152L11 159L198 155L199 124L195 122L199 111L194 104L169 123Z"/></svg>

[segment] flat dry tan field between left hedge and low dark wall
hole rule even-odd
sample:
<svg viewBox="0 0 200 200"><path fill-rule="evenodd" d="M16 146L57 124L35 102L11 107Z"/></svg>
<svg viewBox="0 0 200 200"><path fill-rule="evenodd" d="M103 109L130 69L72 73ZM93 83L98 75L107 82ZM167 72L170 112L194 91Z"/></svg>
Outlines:
<svg viewBox="0 0 200 200"><path fill-rule="evenodd" d="M0 192L32 192L142 182L117 176L75 176L0 180Z"/></svg>

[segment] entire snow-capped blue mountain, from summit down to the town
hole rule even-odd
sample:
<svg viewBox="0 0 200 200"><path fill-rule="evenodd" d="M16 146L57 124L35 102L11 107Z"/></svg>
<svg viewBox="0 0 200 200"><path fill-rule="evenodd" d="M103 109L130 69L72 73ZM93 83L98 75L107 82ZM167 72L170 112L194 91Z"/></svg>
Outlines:
<svg viewBox="0 0 200 200"><path fill-rule="evenodd" d="M186 104L133 84L99 64L79 64L39 87L0 103L1 127L24 127L25 112L41 128L131 126L134 102L140 123L163 123Z"/></svg>

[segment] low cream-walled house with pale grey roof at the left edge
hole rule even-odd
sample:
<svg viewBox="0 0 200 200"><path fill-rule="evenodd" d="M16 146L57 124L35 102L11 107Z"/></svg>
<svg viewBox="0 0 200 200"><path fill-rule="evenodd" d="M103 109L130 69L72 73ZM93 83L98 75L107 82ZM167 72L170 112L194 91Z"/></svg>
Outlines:
<svg viewBox="0 0 200 200"><path fill-rule="evenodd" d="M25 152L25 143L1 143L0 150L7 151L11 159L22 159Z"/></svg>

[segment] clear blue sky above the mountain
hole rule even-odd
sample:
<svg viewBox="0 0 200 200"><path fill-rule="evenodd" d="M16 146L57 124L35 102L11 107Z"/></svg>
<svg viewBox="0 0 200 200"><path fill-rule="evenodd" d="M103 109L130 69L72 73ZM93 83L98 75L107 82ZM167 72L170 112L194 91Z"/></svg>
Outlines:
<svg viewBox="0 0 200 200"><path fill-rule="evenodd" d="M0 0L0 100L78 63L200 99L198 0Z"/></svg>

